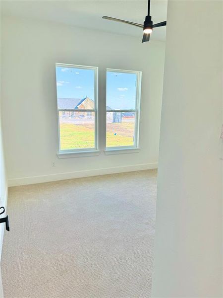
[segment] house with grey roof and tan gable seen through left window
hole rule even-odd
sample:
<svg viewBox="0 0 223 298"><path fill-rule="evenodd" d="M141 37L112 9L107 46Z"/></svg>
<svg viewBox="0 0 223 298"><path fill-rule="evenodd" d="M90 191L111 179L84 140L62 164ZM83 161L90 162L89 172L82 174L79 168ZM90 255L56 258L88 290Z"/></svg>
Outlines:
<svg viewBox="0 0 223 298"><path fill-rule="evenodd" d="M89 97L81 98L57 98L58 109L77 109L77 110L94 110L95 103L94 100ZM86 116L92 116L92 112L74 112L74 111L62 111L62 118L82 118Z"/></svg>

